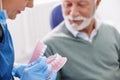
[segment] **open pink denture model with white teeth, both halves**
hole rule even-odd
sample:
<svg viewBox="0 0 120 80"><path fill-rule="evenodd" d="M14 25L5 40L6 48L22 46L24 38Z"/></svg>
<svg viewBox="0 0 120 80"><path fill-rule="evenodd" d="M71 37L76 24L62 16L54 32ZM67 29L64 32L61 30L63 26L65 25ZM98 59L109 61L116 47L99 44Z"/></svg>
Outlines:
<svg viewBox="0 0 120 80"><path fill-rule="evenodd" d="M29 63L32 63L39 57L44 57L44 52L46 48L47 46L44 43L38 42ZM52 56L49 56L47 58L47 63L52 66L52 71L48 77L50 77L54 71L60 70L63 67L63 65L66 63L66 61L67 61L67 58L62 57L58 53Z"/></svg>

